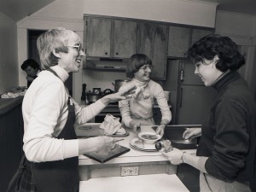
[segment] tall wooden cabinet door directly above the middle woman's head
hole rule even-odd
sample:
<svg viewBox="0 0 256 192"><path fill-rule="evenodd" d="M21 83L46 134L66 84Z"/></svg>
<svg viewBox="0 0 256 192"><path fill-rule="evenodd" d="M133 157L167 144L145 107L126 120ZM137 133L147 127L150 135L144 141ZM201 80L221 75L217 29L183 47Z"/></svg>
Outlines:
<svg viewBox="0 0 256 192"><path fill-rule="evenodd" d="M138 32L138 53L148 55L154 69L153 79L166 79L167 26L154 23L140 23Z"/></svg>

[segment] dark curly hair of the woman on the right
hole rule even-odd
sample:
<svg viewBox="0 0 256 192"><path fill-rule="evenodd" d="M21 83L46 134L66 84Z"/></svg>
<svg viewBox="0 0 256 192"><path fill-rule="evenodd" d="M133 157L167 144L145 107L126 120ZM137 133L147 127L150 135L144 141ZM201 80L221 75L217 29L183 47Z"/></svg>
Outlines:
<svg viewBox="0 0 256 192"><path fill-rule="evenodd" d="M204 63L204 59L212 60L218 55L218 70L237 70L245 64L245 55L241 55L237 44L228 37L218 34L207 35L195 42L188 51L190 61Z"/></svg>

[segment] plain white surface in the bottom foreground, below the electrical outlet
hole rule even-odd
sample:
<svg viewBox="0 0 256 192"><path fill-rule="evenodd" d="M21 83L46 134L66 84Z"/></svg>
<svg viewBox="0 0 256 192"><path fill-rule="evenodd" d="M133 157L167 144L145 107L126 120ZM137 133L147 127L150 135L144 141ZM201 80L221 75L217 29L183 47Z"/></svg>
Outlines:
<svg viewBox="0 0 256 192"><path fill-rule="evenodd" d="M177 175L151 174L126 177L99 177L80 182L79 192L189 192Z"/></svg>

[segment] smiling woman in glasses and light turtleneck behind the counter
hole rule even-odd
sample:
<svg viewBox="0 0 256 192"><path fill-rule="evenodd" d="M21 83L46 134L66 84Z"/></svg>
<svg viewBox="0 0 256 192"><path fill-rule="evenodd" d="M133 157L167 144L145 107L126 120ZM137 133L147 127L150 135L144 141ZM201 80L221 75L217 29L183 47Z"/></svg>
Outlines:
<svg viewBox="0 0 256 192"><path fill-rule="evenodd" d="M127 90L132 86L136 86L137 89L131 95L131 99L119 102L119 110L123 125L134 131L140 131L141 125L155 125L153 107L156 101L162 113L162 119L156 133L163 136L166 125L172 119L172 113L166 101L164 90L160 84L150 79L153 67L152 61L147 55L131 55L126 69L126 77L130 78L131 81L123 84L119 90Z"/></svg>

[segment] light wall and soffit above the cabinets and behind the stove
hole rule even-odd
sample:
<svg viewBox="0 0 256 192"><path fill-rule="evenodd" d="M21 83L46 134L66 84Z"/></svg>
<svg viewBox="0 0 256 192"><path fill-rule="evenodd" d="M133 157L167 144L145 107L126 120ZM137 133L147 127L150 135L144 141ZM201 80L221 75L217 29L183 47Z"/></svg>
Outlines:
<svg viewBox="0 0 256 192"><path fill-rule="evenodd" d="M84 14L214 27L216 6L217 3L190 0L55 0L44 9L18 22L19 62L25 61L27 57L27 29L50 29L62 26L78 32L83 38ZM19 73L20 85L26 84L25 74L21 70ZM79 101L83 83L87 84L87 90L91 90L92 87L101 87L102 90L112 89L111 83L114 79L125 79L125 73L80 70L73 75L73 96Z"/></svg>

